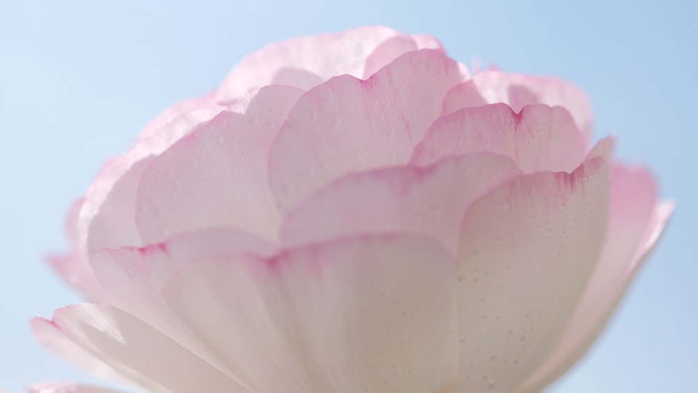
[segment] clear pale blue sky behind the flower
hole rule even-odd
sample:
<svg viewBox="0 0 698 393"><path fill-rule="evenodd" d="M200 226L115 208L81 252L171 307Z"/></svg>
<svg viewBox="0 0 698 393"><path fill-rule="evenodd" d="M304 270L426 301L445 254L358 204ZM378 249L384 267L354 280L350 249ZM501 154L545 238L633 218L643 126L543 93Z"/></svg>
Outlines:
<svg viewBox="0 0 698 393"><path fill-rule="evenodd" d="M698 29L695 1L0 0L0 386L90 380L40 348L34 314L80 296L44 265L105 158L244 54L291 36L386 24L452 57L584 87L597 135L642 161L678 209L591 353L553 392L696 392Z"/></svg>

